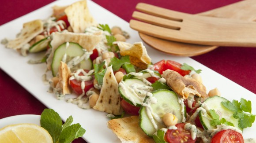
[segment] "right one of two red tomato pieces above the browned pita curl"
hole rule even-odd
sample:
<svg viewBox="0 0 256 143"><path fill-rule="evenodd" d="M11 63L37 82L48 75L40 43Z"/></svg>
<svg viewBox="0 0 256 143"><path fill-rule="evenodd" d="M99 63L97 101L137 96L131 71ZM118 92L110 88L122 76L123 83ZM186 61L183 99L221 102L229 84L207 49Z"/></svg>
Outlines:
<svg viewBox="0 0 256 143"><path fill-rule="evenodd" d="M175 61L167 60L166 69L174 70L180 73L182 76L185 76L191 72L191 70L181 70L181 64Z"/></svg>

